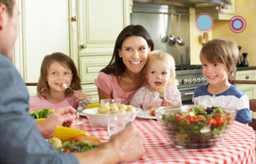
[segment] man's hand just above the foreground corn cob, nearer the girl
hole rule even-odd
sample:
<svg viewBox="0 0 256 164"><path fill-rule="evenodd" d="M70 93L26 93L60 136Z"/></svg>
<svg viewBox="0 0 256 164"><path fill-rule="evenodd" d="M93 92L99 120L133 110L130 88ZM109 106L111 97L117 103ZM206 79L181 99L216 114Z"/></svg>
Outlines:
<svg viewBox="0 0 256 164"><path fill-rule="evenodd" d="M70 121L68 127L73 127L75 125L75 119L79 118L78 113L76 115L70 115L68 113L75 113L76 110L73 107L63 107L58 108L51 113L46 120L38 122L37 126L44 138L50 138L54 134L56 126L61 126L63 122Z"/></svg>

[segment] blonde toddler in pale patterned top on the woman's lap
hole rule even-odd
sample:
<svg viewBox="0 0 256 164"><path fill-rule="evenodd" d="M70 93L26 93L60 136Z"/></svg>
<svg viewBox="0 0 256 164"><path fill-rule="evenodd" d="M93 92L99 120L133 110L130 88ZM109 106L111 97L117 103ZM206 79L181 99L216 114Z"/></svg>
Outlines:
<svg viewBox="0 0 256 164"><path fill-rule="evenodd" d="M150 110L151 107L181 105L181 95L175 84L175 61L170 54L150 52L144 71L149 85L135 93L131 98L131 106ZM160 87L165 88L165 100L159 96Z"/></svg>

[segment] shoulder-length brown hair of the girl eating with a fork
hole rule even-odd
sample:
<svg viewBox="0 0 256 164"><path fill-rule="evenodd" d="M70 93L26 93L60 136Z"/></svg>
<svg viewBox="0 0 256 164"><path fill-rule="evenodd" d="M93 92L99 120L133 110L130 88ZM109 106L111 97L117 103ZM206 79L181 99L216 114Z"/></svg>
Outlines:
<svg viewBox="0 0 256 164"><path fill-rule="evenodd" d="M37 83L38 97L40 98L43 97L47 99L47 97L50 96L50 87L48 85L48 82L46 82L46 79L48 76L50 64L53 62L58 62L63 67L67 69L71 69L73 76L72 76L70 87L72 88L72 90L82 90L81 80L80 80L80 77L78 76L77 69L73 60L70 57L68 57L66 54L63 54L61 52L55 52L55 53L46 55L45 58L43 59L43 63L40 71L40 77ZM65 94L67 94L68 97L70 97L72 95L72 92L68 92L68 90L66 90Z"/></svg>

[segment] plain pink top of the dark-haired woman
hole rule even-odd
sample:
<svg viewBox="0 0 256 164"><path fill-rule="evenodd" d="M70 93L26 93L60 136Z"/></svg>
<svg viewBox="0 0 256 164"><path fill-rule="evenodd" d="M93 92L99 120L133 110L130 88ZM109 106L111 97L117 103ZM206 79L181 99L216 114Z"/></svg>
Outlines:
<svg viewBox="0 0 256 164"><path fill-rule="evenodd" d="M119 98L121 103L125 105L129 105L132 96L134 96L134 93L137 91L135 90L127 93L122 91L114 73L106 74L100 72L94 84L108 95L111 95L112 98ZM145 85L147 85L147 81L145 81L142 86Z"/></svg>

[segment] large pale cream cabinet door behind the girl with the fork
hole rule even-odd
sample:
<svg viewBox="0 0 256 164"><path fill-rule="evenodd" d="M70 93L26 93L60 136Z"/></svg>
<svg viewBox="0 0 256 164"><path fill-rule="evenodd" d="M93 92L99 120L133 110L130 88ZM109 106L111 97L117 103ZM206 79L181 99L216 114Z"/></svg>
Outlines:
<svg viewBox="0 0 256 164"><path fill-rule="evenodd" d="M70 12L68 0L17 0L21 12L21 33L14 46L14 66L24 82L38 82L43 58L53 52L70 53ZM36 87L28 87L29 96Z"/></svg>

